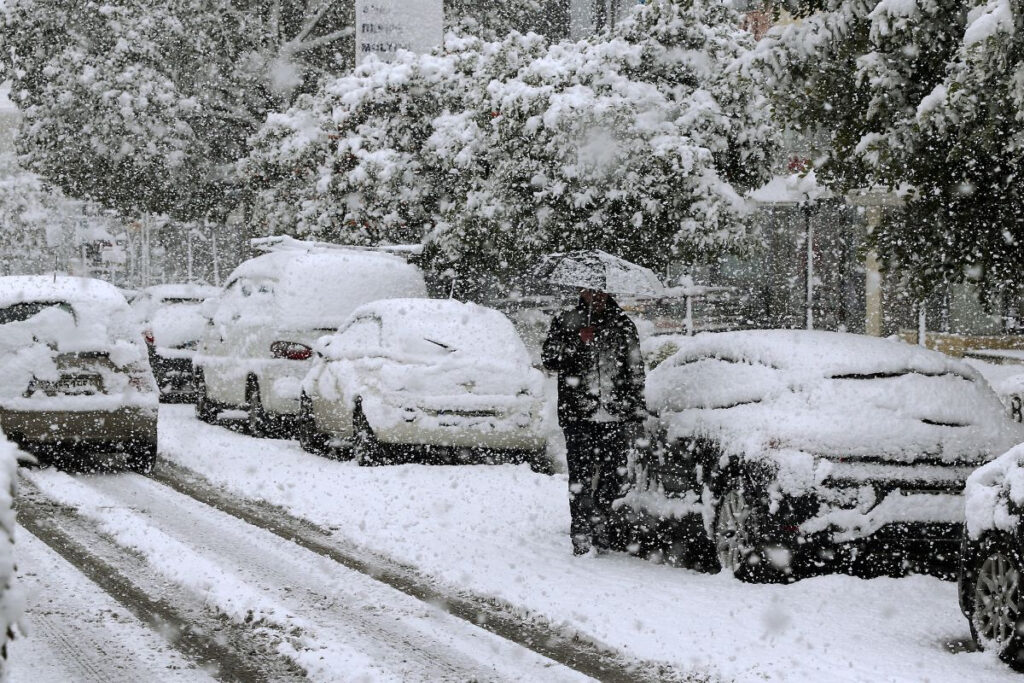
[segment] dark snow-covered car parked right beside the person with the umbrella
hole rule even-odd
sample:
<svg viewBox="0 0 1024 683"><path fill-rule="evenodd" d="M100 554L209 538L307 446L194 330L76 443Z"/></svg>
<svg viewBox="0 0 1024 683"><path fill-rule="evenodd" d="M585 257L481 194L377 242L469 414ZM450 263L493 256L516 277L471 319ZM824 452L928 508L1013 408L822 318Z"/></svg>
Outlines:
<svg viewBox="0 0 1024 683"><path fill-rule="evenodd" d="M625 503L641 538L702 546L741 579L868 546L952 565L968 475L1024 440L974 369L918 346L787 330L679 344L647 378L652 447ZM697 538L672 539L694 514Z"/></svg>

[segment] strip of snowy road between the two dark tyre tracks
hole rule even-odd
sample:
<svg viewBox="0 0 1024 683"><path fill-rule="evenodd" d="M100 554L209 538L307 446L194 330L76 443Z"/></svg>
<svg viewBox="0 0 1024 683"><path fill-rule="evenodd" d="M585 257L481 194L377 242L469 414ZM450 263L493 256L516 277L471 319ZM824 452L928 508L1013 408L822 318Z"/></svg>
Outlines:
<svg viewBox="0 0 1024 683"><path fill-rule="evenodd" d="M23 476L140 554L163 581L202 596L207 608L237 624L253 625L312 680L585 678L151 479Z"/></svg>

